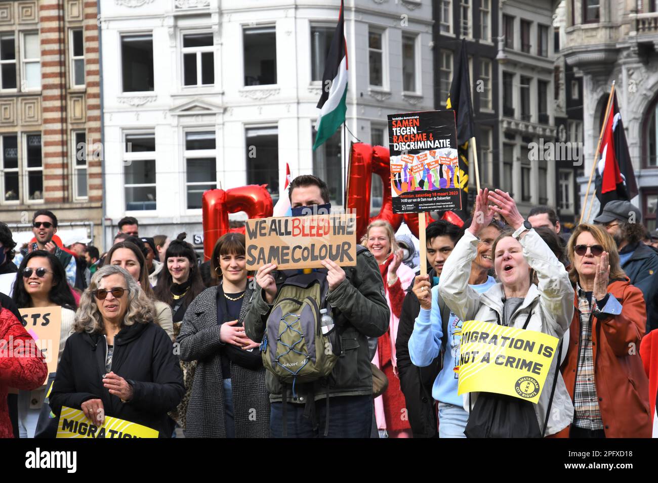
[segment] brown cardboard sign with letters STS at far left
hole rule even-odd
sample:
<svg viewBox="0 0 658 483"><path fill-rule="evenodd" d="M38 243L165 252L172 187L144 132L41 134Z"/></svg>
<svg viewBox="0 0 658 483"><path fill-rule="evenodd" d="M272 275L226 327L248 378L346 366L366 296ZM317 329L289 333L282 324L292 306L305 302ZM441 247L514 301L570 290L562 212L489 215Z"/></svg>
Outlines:
<svg viewBox="0 0 658 483"><path fill-rule="evenodd" d="M34 338L48 365L48 373L57 371L59 339L62 327L62 308L36 307L18 309L25 330Z"/></svg>

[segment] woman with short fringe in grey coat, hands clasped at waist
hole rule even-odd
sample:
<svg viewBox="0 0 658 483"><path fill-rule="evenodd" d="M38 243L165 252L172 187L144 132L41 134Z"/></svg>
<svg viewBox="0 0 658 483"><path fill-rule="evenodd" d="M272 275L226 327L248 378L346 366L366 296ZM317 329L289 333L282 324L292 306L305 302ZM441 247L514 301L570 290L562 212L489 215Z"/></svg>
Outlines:
<svg viewBox="0 0 658 483"><path fill-rule="evenodd" d="M188 438L269 436L265 368L259 344L242 327L253 293L246 265L244 235L222 236L211 256L217 285L197 296L183 319L180 358L197 361L186 412Z"/></svg>

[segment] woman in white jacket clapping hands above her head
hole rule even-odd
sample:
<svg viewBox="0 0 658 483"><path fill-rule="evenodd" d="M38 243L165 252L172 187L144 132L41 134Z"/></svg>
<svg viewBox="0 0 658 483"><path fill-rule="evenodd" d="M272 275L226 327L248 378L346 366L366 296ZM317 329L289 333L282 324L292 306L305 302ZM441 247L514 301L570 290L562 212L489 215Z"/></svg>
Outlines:
<svg viewBox="0 0 658 483"><path fill-rule="evenodd" d="M495 206L489 206L490 202ZM500 283L480 293L468 287L470 266L477 254L477 233L491 222L494 212L502 216L511 229L503 230L493 242L493 267ZM532 283L534 273L538 285ZM450 310L463 321L477 320L528 329L557 338L569 330L574 310L574 290L564 265L532 225L524 221L513 198L499 189L478 192L471 225L443 265L439 293ZM531 404L537 425L530 418L532 421L526 419L525 426L499 428L499 434L490 436L517 436L519 432L524 436L549 436L567 427L572 419L573 405L562 375L556 370L558 359L559 356L555 355L551 361L537 404L511 396L487 394L478 405L478 395L482 393L466 396L465 409L470 410L467 435L484 434L484 426L491 421L482 421L478 416L486 416L484 406L494 400L507 408L519 402ZM528 407L520 408L520 411L524 409Z"/></svg>

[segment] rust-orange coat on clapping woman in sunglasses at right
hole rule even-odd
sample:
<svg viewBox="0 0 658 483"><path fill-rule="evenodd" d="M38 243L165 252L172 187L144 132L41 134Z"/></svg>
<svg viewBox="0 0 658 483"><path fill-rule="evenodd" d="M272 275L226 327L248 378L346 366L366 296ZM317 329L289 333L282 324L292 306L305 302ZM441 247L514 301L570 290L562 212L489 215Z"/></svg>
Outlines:
<svg viewBox="0 0 658 483"><path fill-rule="evenodd" d="M615 280L608 292L619 300L622 312L599 321L592 315L594 378L599 396L606 438L651 438L649 381L640 360L647 312L639 288L628 278ZM574 318L569 328L569 350L562 375L573 399L580 340L578 294L574 297Z"/></svg>

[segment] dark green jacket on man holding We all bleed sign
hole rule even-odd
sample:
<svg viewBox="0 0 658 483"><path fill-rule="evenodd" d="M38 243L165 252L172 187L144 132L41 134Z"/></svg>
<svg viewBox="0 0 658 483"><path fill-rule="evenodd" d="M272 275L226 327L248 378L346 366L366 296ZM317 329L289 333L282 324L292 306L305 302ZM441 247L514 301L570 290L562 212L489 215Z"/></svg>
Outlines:
<svg viewBox="0 0 658 483"><path fill-rule="evenodd" d="M334 309L334 323L342 331L342 354L336 367L326 379L308 384L295 384L295 396L291 385L287 386L288 402L306 403L307 394L315 399L326 394L334 396L365 396L372 394L372 369L368 357L368 337L379 337L388 330L390 310L384 296L384 283L374 256L364 250L357 254L357 266L353 267L349 280L345 279L329 292L327 301ZM274 275L274 274L273 274ZM274 275L278 281L278 277ZM265 323L272 306L265 302L263 290L255 290L244 319L247 336L256 342L263 340ZM282 400L281 384L270 371L265 375L270 401Z"/></svg>

